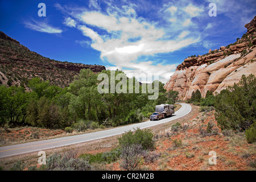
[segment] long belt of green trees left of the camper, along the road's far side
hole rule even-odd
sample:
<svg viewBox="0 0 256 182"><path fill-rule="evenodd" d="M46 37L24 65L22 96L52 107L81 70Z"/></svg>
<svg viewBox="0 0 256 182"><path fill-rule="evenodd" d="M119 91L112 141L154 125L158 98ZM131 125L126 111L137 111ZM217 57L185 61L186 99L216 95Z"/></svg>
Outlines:
<svg viewBox="0 0 256 182"><path fill-rule="evenodd" d="M102 71L110 79L110 71ZM115 71L115 74L123 73ZM32 126L63 129L67 133L87 129L104 129L148 119L155 105L174 104L177 92L166 92L159 82L159 97L148 100L150 93L98 93L99 73L82 69L67 88L50 85L39 77L28 81L30 90L22 86L0 86L0 126L5 129ZM109 81L110 82L110 81ZM115 86L118 84L115 81ZM133 78L135 89L135 78ZM155 81L156 82L156 81ZM129 79L127 78L127 84ZM154 82L152 83L154 87ZM110 89L110 88L109 88ZM128 88L127 88L128 89ZM27 92L28 91L28 92Z"/></svg>

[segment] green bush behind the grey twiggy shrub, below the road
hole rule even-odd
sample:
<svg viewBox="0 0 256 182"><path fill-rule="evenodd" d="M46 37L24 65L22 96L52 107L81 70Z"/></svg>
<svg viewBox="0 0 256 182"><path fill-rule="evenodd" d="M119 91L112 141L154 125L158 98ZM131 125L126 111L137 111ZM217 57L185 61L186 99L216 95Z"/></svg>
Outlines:
<svg viewBox="0 0 256 182"><path fill-rule="evenodd" d="M143 131L137 129L134 134L132 131L126 132L122 137L118 138L118 141L121 148L131 146L132 144L141 144L144 150L148 150L154 148L153 137L154 134L152 134L151 130L145 129Z"/></svg>

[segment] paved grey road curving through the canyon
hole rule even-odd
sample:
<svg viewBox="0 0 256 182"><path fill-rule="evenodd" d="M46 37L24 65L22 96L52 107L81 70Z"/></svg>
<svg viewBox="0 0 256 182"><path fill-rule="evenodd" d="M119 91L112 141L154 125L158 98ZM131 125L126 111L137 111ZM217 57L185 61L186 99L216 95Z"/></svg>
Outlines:
<svg viewBox="0 0 256 182"><path fill-rule="evenodd" d="M139 127L140 129L144 129L147 127L173 121L177 118L183 117L184 115L188 114L191 111L190 105L183 104L183 103L180 103L180 104L181 104L180 109L177 110L175 114L172 115L172 117L160 119L159 121L146 121L142 123L135 123L129 126L121 126L121 127L115 127L114 129L97 131L94 133L80 134L80 135L74 135L69 137L61 137L61 138L48 139L48 140L42 140L37 142L16 144L13 146L0 147L0 158L26 154L26 153L36 152L41 150L48 150L50 148L63 147L63 146L68 146L71 144L76 144L81 142L88 142L90 140L111 137L113 135L119 135L129 130L133 131L137 129L137 127Z"/></svg>

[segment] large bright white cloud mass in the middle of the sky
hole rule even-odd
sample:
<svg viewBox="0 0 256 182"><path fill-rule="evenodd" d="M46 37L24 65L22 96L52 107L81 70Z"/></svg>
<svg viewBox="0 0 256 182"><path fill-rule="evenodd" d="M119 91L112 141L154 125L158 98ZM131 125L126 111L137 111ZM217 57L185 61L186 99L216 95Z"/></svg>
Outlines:
<svg viewBox="0 0 256 182"><path fill-rule="evenodd" d="M106 9L106 13L87 10L73 17L82 24L77 26L82 34L92 39L90 46L101 52L102 60L111 64L106 68L122 69L127 76L136 76L136 73L158 73L159 80L166 82L177 64L156 64L154 57L159 53L173 52L199 41L196 36L190 36L190 31L184 30L184 26L189 28L191 25L190 15L184 16L181 22L179 15L184 14L184 11L178 12L178 7L168 7L168 13L172 15L170 20L175 23L175 27L165 28L159 26L158 22L138 17L130 6L122 6L121 9L109 6ZM175 34L177 36L173 36ZM141 56L146 58L142 60ZM151 59L148 56L151 56Z"/></svg>

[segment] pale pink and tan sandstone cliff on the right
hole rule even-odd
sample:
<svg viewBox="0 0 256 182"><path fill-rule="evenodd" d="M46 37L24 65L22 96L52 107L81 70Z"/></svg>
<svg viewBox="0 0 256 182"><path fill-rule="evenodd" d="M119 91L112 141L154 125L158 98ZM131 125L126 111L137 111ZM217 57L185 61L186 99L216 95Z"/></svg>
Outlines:
<svg viewBox="0 0 256 182"><path fill-rule="evenodd" d="M181 100L188 100L197 89L205 97L207 90L219 93L238 82L242 75L255 74L256 16L245 27L246 34L237 42L186 58L164 88L178 91Z"/></svg>

